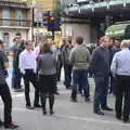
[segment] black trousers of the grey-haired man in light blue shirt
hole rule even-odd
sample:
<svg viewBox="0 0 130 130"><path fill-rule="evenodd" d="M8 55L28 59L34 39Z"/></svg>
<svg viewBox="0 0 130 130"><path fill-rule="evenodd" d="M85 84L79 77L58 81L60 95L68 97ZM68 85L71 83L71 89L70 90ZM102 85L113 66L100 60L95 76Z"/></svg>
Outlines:
<svg viewBox="0 0 130 130"><path fill-rule="evenodd" d="M123 102L123 114L122 114L122 98ZM117 75L117 93L116 93L116 116L123 119L129 119L130 115L130 76Z"/></svg>

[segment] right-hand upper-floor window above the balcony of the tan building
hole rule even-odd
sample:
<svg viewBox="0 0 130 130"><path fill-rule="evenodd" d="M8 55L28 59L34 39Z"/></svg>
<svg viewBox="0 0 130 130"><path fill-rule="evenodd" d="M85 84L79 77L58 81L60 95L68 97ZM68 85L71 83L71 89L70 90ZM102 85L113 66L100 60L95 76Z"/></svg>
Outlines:
<svg viewBox="0 0 130 130"><path fill-rule="evenodd" d="M16 26L22 26L22 10L16 9L15 11Z"/></svg>

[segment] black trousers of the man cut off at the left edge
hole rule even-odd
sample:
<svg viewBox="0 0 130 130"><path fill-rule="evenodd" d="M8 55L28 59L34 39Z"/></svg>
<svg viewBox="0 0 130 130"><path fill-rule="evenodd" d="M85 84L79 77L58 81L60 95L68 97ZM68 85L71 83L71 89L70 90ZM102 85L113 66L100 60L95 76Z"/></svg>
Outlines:
<svg viewBox="0 0 130 130"><path fill-rule="evenodd" d="M9 127L12 122L12 98L6 82L0 84L0 95L4 103L4 127Z"/></svg>

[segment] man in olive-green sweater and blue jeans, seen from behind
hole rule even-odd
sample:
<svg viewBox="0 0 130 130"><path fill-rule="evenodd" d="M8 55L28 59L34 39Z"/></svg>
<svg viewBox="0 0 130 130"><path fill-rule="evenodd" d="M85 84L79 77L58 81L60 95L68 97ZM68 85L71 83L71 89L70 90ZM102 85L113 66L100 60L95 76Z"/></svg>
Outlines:
<svg viewBox="0 0 130 130"><path fill-rule="evenodd" d="M90 63L89 50L82 44L83 38L76 38L77 46L73 48L69 61L73 64L72 101L77 102L77 86L81 83L84 90L84 101L89 100L88 66Z"/></svg>

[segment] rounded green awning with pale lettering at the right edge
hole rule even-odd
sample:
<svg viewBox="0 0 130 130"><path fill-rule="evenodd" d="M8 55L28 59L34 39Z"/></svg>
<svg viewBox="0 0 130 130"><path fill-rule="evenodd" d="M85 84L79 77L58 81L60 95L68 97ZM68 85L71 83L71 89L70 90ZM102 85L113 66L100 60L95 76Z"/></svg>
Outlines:
<svg viewBox="0 0 130 130"><path fill-rule="evenodd" d="M130 23L112 25L106 29L105 35L112 38L130 36Z"/></svg>

